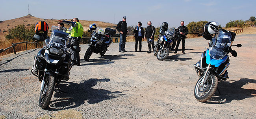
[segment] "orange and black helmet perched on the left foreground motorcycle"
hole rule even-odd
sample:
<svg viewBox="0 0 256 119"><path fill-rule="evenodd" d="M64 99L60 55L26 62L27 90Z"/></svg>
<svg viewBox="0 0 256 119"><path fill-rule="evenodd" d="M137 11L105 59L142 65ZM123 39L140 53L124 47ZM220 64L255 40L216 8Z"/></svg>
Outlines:
<svg viewBox="0 0 256 119"><path fill-rule="evenodd" d="M39 21L35 24L35 34L46 38L49 26L45 21Z"/></svg>

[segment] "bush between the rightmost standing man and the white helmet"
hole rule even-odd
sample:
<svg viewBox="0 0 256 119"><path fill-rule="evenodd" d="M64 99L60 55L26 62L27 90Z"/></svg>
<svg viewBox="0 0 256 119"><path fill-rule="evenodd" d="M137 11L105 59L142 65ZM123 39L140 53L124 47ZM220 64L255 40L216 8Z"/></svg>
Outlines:
<svg viewBox="0 0 256 119"><path fill-rule="evenodd" d="M204 25L208 23L208 21L199 21L199 22L189 22L187 24L188 32L204 32Z"/></svg>

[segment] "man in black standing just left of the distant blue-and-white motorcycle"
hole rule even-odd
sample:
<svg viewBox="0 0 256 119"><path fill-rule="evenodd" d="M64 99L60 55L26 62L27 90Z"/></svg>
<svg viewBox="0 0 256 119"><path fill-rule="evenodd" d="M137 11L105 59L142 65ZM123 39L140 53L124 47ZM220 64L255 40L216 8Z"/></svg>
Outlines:
<svg viewBox="0 0 256 119"><path fill-rule="evenodd" d="M148 41L148 52L151 53L151 46L152 49L154 50L154 35L156 33L156 29L154 26L151 25L151 22L148 21L148 26L145 28L145 34L144 34L144 40L147 38Z"/></svg>

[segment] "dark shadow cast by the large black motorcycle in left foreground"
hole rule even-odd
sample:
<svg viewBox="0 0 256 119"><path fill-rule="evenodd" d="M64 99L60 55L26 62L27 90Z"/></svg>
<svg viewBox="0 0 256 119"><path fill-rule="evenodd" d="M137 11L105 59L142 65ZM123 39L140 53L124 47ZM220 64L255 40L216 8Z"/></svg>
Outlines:
<svg viewBox="0 0 256 119"><path fill-rule="evenodd" d="M63 92L57 91L54 94L54 97L57 99L51 101L49 104L50 108L47 108L46 110L65 110L81 106L86 101L89 104L95 104L123 95L121 94L122 92L119 91L111 92L109 90L93 88L98 84L98 82L108 81L110 81L110 79L89 79L86 81L80 81L78 83L60 83L58 87Z"/></svg>

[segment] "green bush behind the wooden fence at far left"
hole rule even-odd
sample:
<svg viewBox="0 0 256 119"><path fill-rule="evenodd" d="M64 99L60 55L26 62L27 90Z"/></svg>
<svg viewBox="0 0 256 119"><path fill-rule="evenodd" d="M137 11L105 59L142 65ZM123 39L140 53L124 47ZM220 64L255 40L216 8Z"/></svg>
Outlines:
<svg viewBox="0 0 256 119"><path fill-rule="evenodd" d="M9 29L9 34L5 37L7 40L19 39L20 41L32 41L35 34L34 27L26 28L25 25L18 25L15 28Z"/></svg>

